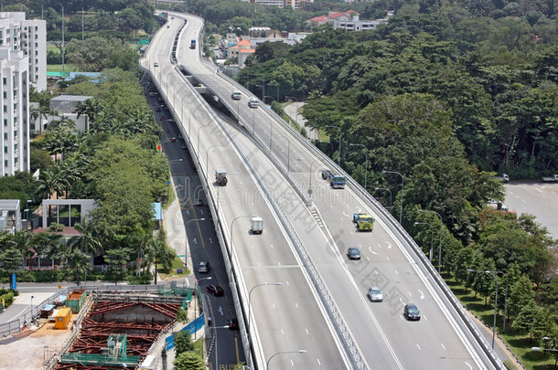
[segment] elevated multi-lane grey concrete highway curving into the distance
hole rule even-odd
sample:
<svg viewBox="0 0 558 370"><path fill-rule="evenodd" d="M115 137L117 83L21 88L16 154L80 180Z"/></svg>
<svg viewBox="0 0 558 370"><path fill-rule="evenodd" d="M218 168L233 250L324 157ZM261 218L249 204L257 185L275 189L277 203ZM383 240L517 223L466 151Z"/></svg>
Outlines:
<svg viewBox="0 0 558 370"><path fill-rule="evenodd" d="M210 111L170 63L184 18L177 62L197 86L228 105L241 125ZM226 254L238 269L258 365L273 360L274 368L494 368L392 220L352 186L330 189L319 170L332 164L263 106L249 108L249 91L231 100L231 92L241 88L200 62L198 49L188 48L199 36L199 18L174 14L168 26L157 33L143 64L174 107L208 178L228 240ZM220 168L230 174L225 187L212 184L211 174ZM355 231L351 217L361 211L376 218L371 233ZM248 231L253 214L264 219L262 235ZM349 261L348 247L358 247L362 258ZM372 285L381 287L384 301L367 299ZM402 317L407 302L418 305L421 321Z"/></svg>

